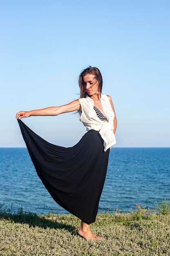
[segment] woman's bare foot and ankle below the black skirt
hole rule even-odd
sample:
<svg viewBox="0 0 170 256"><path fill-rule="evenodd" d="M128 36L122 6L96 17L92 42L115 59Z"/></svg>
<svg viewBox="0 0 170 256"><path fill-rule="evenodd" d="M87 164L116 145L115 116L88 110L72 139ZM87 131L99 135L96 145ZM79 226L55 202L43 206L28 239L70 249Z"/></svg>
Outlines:
<svg viewBox="0 0 170 256"><path fill-rule="evenodd" d="M86 240L102 240L101 237L96 236L91 232L90 225L82 221L81 227L78 231L79 235Z"/></svg>

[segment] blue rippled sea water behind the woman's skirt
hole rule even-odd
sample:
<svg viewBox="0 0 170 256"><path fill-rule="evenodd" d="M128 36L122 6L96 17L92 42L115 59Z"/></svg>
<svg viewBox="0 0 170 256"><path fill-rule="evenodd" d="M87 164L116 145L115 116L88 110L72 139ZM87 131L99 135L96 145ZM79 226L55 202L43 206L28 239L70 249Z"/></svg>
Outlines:
<svg viewBox="0 0 170 256"><path fill-rule="evenodd" d="M68 213L51 198L26 148L0 148L0 204L40 214ZM170 148L113 148L98 212L153 209L170 200Z"/></svg>

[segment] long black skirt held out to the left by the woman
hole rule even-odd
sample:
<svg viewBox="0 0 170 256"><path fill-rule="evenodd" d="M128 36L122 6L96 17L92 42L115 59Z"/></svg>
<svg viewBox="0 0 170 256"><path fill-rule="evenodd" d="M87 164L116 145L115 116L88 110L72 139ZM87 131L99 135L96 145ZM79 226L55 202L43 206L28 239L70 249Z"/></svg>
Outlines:
<svg viewBox="0 0 170 256"><path fill-rule="evenodd" d="M87 224L95 222L108 166L99 132L90 130L73 147L53 145L18 119L35 170L52 198Z"/></svg>

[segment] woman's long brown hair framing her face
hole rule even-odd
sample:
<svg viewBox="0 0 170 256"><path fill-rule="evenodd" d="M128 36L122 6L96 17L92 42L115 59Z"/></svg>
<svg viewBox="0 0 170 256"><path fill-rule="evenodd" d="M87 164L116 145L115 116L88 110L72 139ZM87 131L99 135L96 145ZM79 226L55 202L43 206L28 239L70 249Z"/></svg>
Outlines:
<svg viewBox="0 0 170 256"><path fill-rule="evenodd" d="M82 72L79 74L80 98L86 98L86 95L88 95L83 85L83 76L86 76L87 74L91 74L95 76L95 79L99 83L99 92L102 93L102 85L103 85L102 74L100 73L100 70L97 67L89 66L86 69L82 70Z"/></svg>

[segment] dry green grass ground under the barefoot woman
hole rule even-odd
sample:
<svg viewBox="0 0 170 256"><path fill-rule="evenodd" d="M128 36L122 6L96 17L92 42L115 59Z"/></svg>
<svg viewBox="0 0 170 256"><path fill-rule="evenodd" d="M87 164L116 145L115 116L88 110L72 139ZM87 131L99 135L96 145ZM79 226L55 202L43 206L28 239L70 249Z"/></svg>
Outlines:
<svg viewBox="0 0 170 256"><path fill-rule="evenodd" d="M155 210L137 205L131 213L97 215L92 231L104 239L87 241L77 234L80 220L73 215L39 216L0 210L0 256L163 256L170 255L170 206Z"/></svg>

